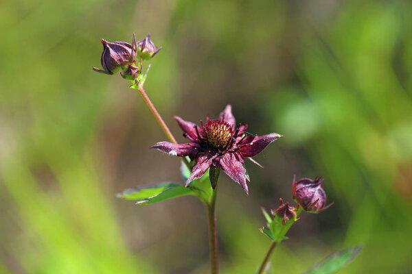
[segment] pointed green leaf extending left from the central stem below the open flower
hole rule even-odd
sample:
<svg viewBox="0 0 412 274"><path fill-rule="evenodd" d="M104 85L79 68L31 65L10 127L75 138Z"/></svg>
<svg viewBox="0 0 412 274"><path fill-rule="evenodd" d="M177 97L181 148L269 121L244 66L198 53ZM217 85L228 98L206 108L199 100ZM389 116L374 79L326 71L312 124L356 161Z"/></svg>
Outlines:
<svg viewBox="0 0 412 274"><path fill-rule="evenodd" d="M126 189L117 197L126 200L136 200L139 204L157 203L184 195L196 195L196 193L185 186L172 182L142 186L134 189Z"/></svg>

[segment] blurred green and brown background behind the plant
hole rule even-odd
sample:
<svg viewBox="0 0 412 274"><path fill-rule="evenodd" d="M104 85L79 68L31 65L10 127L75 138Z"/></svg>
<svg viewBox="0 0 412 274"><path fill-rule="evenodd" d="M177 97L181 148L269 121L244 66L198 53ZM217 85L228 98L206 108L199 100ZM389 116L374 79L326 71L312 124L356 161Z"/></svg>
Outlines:
<svg viewBox="0 0 412 274"><path fill-rule="evenodd" d="M124 188L181 182L138 93L95 73L100 39L148 32L163 50L146 90L173 121L227 103L277 140L249 163L250 195L221 176L222 273L255 273L260 206L291 200L293 172L335 205L304 214L275 250L302 273L363 245L340 273L412 273L412 3L380 0L31 0L0 3L0 273L207 273L207 218L181 197Z"/></svg>

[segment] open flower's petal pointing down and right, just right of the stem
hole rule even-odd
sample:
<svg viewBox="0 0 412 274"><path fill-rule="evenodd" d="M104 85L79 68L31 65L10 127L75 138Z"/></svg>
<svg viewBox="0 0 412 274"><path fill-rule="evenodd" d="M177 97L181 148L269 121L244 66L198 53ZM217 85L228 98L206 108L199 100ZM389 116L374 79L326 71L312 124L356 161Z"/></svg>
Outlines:
<svg viewBox="0 0 412 274"><path fill-rule="evenodd" d="M232 153L227 153L223 155L220 159L220 166L222 171L224 171L233 181L242 186L244 192L249 195L249 190L247 188L246 180L246 169L241 162L236 160L236 157Z"/></svg>

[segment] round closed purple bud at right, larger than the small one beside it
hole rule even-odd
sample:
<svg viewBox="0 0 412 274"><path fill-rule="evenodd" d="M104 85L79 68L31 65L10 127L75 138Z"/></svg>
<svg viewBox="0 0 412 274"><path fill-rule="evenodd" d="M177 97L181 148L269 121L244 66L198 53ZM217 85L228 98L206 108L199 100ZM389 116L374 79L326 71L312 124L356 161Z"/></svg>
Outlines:
<svg viewBox="0 0 412 274"><path fill-rule="evenodd" d="M327 197L323 190L323 178L314 179L303 178L296 182L296 175L293 176L292 195L293 199L304 210L312 213L321 212L332 206L333 202L326 206Z"/></svg>

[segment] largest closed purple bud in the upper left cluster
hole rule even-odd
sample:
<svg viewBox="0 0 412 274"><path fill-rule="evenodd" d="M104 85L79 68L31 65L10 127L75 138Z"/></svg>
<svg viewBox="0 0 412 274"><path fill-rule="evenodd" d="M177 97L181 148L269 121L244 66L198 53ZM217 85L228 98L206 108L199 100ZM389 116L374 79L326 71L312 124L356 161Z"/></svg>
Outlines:
<svg viewBox="0 0 412 274"><path fill-rule="evenodd" d="M103 53L101 63L103 69L98 69L93 66L93 71L113 75L113 72L126 64L132 63L136 57L136 38L133 34L133 45L128 42L108 42L102 39Z"/></svg>

